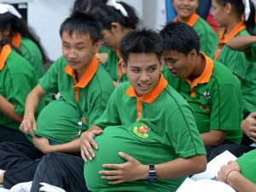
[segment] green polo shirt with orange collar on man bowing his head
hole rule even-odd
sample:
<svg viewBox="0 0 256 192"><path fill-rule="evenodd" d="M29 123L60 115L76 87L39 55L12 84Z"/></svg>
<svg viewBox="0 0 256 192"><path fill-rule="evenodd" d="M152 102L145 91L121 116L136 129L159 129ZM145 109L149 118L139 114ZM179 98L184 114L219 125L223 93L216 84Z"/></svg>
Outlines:
<svg viewBox="0 0 256 192"><path fill-rule="evenodd" d="M195 121L200 133L207 133L210 130L225 131L226 140L240 144L240 82L224 65L202 55L206 59L206 68L195 82L189 84L172 76L170 71L165 71L164 76L195 111ZM195 87L192 88L192 85Z"/></svg>

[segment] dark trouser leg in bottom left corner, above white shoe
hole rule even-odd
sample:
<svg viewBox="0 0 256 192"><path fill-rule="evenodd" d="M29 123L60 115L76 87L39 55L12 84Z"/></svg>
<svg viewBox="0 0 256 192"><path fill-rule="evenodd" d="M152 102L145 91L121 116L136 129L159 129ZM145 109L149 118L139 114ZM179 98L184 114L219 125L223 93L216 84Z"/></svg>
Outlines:
<svg viewBox="0 0 256 192"><path fill-rule="evenodd" d="M4 173L3 187L12 188L15 184L32 181L40 157L44 153L31 143L3 142L0 144L0 169Z"/></svg>

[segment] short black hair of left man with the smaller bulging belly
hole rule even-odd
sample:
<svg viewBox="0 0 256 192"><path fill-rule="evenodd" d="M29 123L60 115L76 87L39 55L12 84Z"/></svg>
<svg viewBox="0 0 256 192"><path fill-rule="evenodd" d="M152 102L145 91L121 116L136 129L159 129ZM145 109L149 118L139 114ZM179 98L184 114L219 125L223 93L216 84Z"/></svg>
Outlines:
<svg viewBox="0 0 256 192"><path fill-rule="evenodd" d="M89 34L92 42L97 42L101 38L101 25L90 15L80 11L74 12L61 24L60 35L66 31L69 36L73 33Z"/></svg>

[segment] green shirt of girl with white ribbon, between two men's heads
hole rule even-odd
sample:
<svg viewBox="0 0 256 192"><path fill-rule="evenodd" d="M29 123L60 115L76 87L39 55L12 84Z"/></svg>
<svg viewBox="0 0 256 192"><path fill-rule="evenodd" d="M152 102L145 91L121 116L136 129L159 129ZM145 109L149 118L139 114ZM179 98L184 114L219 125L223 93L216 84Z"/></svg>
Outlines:
<svg viewBox="0 0 256 192"><path fill-rule="evenodd" d="M119 58L115 51L112 51L106 46L102 45L100 48L100 53L107 53L108 54L108 61L106 64L102 65L104 69L108 72L109 76L111 76L114 82L126 82L128 80L128 76L126 73L122 74L121 79L119 80L118 76L118 63Z"/></svg>

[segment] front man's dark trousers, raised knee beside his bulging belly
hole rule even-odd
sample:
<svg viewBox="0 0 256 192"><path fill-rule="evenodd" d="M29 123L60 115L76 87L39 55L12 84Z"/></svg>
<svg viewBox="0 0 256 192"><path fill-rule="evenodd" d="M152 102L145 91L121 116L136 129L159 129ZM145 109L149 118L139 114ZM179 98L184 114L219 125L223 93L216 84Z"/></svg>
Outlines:
<svg viewBox="0 0 256 192"><path fill-rule="evenodd" d="M32 183L32 192L40 183L55 185L70 192L88 192L84 181L84 161L81 156L50 153L41 159Z"/></svg>

